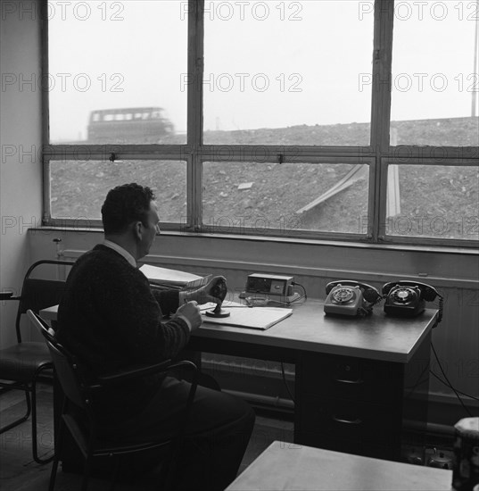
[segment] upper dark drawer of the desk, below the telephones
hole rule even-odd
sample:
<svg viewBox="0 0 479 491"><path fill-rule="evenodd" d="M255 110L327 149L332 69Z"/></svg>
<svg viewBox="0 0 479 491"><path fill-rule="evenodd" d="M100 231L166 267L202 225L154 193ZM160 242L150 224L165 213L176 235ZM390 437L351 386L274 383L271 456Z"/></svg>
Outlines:
<svg viewBox="0 0 479 491"><path fill-rule="evenodd" d="M301 364L302 392L377 404L401 404L401 363L309 354Z"/></svg>

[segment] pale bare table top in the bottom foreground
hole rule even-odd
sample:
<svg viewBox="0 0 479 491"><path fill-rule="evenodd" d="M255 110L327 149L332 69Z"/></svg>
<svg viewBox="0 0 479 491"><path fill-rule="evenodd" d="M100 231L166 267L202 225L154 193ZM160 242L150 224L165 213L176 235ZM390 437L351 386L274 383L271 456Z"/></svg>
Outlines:
<svg viewBox="0 0 479 491"><path fill-rule="evenodd" d="M446 491L452 470L273 442L226 491Z"/></svg>

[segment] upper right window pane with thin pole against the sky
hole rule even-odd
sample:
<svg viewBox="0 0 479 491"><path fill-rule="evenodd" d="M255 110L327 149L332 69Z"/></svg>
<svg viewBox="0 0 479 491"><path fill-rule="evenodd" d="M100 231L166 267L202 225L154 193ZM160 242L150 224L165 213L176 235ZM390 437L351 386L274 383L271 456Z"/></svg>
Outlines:
<svg viewBox="0 0 479 491"><path fill-rule="evenodd" d="M475 2L399 2L392 44L392 145L477 146Z"/></svg>

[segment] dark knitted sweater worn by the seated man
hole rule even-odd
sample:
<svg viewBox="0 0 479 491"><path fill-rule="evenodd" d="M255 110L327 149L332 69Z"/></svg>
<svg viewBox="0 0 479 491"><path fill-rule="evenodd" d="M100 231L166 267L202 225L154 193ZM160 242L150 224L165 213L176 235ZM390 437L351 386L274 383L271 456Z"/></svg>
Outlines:
<svg viewBox="0 0 479 491"><path fill-rule="evenodd" d="M56 337L78 356L88 376L174 358L190 331L184 320L164 321L178 308L178 291L154 291L145 275L116 251L96 245L70 270L58 308ZM146 378L104 395L102 412L115 422L135 416L158 390Z"/></svg>

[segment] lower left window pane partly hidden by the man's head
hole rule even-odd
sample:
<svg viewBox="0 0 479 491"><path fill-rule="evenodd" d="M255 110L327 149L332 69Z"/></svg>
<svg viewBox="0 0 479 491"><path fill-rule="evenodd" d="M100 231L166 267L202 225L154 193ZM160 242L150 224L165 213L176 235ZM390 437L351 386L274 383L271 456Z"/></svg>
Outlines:
<svg viewBox="0 0 479 491"><path fill-rule="evenodd" d="M153 189L161 222L185 221L186 162L52 161L50 182L54 219L101 220L108 191L137 182Z"/></svg>

